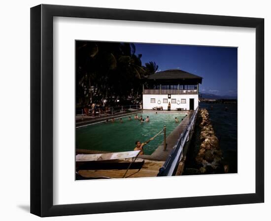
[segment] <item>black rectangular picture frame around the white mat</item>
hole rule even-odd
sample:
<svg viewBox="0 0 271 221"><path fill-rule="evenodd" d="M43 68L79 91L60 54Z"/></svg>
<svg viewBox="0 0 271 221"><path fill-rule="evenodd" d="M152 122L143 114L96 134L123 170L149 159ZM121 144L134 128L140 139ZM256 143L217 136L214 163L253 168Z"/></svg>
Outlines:
<svg viewBox="0 0 271 221"><path fill-rule="evenodd" d="M53 205L53 17L256 28L255 193ZM41 4L31 8L31 213L40 217L264 202L264 19Z"/></svg>

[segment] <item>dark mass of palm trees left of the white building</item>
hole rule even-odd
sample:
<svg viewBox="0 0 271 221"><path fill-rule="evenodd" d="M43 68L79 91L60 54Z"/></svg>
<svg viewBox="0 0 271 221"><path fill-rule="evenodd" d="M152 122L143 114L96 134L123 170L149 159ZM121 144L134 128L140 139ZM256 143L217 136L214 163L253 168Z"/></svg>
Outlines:
<svg viewBox="0 0 271 221"><path fill-rule="evenodd" d="M140 79L158 69L152 61L143 66L141 56L133 43L76 41L76 104L137 104Z"/></svg>

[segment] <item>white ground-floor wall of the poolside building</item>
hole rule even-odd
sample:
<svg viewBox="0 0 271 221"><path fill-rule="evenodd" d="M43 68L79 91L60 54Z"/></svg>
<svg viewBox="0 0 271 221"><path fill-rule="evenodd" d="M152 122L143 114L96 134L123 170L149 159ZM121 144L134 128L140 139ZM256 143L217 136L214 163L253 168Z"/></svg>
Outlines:
<svg viewBox="0 0 271 221"><path fill-rule="evenodd" d="M155 103L151 103L151 98L155 99ZM168 103L163 103L163 99L167 98ZM199 105L199 95L198 94L171 94L171 98L168 98L168 94L143 94L143 109L152 110L154 107L163 107L163 110L168 109L168 104L171 104L171 110L176 110L176 108L183 108L189 110L189 99L194 98L194 110ZM176 99L176 104L172 104L171 99ZM186 99L185 104L178 104L181 99ZM159 101L161 104L158 104ZM178 102L179 101L179 102Z"/></svg>

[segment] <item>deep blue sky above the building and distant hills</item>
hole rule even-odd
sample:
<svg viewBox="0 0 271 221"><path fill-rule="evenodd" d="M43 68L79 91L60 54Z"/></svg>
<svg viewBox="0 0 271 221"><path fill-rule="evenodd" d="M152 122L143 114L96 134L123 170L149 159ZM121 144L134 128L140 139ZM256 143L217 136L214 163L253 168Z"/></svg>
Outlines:
<svg viewBox="0 0 271 221"><path fill-rule="evenodd" d="M200 92L237 95L237 48L137 44L142 65L154 61L158 71L181 69L203 77Z"/></svg>

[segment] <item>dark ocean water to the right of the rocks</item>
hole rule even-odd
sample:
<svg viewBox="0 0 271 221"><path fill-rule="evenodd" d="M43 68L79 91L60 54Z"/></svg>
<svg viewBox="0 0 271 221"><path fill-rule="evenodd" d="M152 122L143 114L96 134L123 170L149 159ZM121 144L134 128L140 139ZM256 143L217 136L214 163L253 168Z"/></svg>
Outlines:
<svg viewBox="0 0 271 221"><path fill-rule="evenodd" d="M223 163L229 165L230 173L237 173L237 104L200 103L200 108L205 108L209 112L223 152Z"/></svg>

